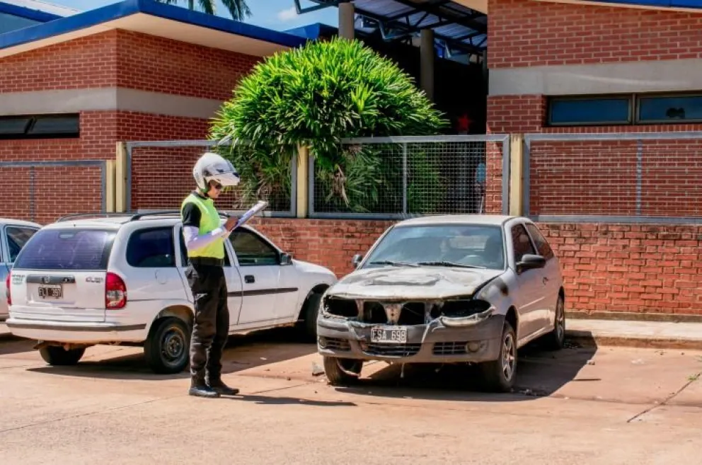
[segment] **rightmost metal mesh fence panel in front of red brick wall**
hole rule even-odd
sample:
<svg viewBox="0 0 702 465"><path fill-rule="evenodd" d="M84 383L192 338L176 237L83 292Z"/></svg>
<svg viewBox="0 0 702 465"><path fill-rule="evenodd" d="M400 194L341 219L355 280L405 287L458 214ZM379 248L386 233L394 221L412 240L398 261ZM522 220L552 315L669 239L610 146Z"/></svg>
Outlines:
<svg viewBox="0 0 702 465"><path fill-rule="evenodd" d="M702 223L702 132L525 134L524 211L544 222Z"/></svg>

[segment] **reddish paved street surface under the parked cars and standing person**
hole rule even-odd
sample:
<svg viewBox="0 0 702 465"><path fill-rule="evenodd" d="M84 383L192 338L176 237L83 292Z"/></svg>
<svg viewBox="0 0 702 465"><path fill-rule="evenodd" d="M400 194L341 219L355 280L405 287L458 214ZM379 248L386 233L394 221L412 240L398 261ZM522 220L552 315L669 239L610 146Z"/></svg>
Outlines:
<svg viewBox="0 0 702 465"><path fill-rule="evenodd" d="M136 348L47 367L0 342L0 464L669 464L702 452L702 352L568 348L521 354L519 389L483 394L470 369L364 369L354 388L314 376L289 331L232 338L236 398L185 394ZM401 377L403 374L403 377Z"/></svg>

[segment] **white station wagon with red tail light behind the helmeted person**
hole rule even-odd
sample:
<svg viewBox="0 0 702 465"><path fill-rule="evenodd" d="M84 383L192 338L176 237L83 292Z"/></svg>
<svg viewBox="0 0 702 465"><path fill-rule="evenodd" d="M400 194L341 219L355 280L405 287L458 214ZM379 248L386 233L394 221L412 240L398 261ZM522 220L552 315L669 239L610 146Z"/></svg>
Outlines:
<svg viewBox="0 0 702 465"><path fill-rule="evenodd" d="M229 236L226 254L230 333L297 323L316 333L333 272L293 260L249 226ZM19 253L7 326L39 340L49 364L76 364L91 345L140 344L154 372L180 372L193 315L186 267L177 212L64 217Z"/></svg>

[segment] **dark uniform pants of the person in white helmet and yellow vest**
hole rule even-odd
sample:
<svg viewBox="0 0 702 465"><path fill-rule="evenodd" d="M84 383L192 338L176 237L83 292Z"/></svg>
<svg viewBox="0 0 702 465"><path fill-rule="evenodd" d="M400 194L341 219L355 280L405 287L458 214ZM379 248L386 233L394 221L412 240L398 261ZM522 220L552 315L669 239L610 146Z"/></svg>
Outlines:
<svg viewBox="0 0 702 465"><path fill-rule="evenodd" d="M190 376L194 384L221 376L221 354L229 335L226 280L221 266L193 265L185 270L195 299L195 322L190 339Z"/></svg>

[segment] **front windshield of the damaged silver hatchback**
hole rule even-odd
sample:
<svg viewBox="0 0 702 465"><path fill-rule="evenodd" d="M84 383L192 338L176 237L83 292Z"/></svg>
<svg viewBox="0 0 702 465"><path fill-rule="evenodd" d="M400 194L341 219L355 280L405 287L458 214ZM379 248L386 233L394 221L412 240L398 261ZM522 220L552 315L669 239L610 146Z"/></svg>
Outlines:
<svg viewBox="0 0 702 465"><path fill-rule="evenodd" d="M388 265L504 270L502 228L473 224L398 226L368 256L364 268Z"/></svg>

